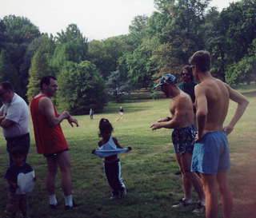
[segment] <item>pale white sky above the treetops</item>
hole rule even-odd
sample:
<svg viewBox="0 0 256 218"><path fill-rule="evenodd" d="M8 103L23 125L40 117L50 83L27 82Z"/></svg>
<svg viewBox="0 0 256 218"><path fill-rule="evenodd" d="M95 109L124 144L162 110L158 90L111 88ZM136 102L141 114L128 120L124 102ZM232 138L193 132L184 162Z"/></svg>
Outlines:
<svg viewBox="0 0 256 218"><path fill-rule="evenodd" d="M222 10L234 1L212 0L210 5ZM0 18L26 17L42 33L55 35L74 23L89 41L128 34L135 16L156 10L154 0L0 0L0 6Z"/></svg>

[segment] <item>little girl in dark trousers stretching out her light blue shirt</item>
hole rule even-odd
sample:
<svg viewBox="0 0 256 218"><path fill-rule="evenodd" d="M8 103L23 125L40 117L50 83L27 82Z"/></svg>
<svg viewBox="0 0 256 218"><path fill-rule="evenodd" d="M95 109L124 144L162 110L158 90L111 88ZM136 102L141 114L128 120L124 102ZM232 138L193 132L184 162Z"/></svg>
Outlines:
<svg viewBox="0 0 256 218"><path fill-rule="evenodd" d="M123 149L118 140L112 137L113 127L107 119L101 119L99 122L99 136L102 140L98 142L99 149L92 153L98 157L105 157L104 168L106 178L112 188L110 199L120 199L126 197L126 186L122 180L121 162L118 159L118 153L127 153L130 147Z"/></svg>

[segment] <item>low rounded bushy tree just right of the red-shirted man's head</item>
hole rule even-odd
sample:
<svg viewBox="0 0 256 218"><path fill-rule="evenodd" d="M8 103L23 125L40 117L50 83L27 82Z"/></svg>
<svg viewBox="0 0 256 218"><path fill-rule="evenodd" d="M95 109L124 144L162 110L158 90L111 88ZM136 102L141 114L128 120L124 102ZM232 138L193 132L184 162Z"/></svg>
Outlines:
<svg viewBox="0 0 256 218"><path fill-rule="evenodd" d="M103 109L106 103L104 81L90 61L66 62L58 74L58 105L73 114Z"/></svg>

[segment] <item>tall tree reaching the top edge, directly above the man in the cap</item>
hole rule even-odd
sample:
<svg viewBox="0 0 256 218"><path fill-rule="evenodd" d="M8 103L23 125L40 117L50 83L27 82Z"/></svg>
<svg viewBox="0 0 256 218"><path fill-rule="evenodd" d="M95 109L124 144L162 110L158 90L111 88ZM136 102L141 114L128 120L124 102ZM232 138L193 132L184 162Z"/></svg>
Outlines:
<svg viewBox="0 0 256 218"><path fill-rule="evenodd" d="M163 45L158 49L158 59L170 69L181 68L188 63L189 57L196 50L204 48L202 26L204 14L209 0L180 0L157 1L161 8L166 3L169 11L169 21L162 30L160 42ZM165 12L166 13L166 12ZM168 52L166 53L166 48ZM162 56L161 56L162 55ZM166 56L167 55L167 56ZM164 72L166 69L160 69Z"/></svg>

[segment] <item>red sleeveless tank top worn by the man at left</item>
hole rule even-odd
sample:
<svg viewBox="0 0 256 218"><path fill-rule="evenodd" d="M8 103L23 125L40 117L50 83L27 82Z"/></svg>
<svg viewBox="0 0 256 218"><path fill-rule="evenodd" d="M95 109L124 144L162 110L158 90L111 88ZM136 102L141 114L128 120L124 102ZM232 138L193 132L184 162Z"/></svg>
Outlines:
<svg viewBox="0 0 256 218"><path fill-rule="evenodd" d="M38 153L49 155L68 149L61 125L50 127L45 115L39 111L38 105L41 97L46 97L46 95L42 94L34 97L30 103L30 112L34 125L34 138ZM54 113L55 117L58 117L55 106Z"/></svg>

